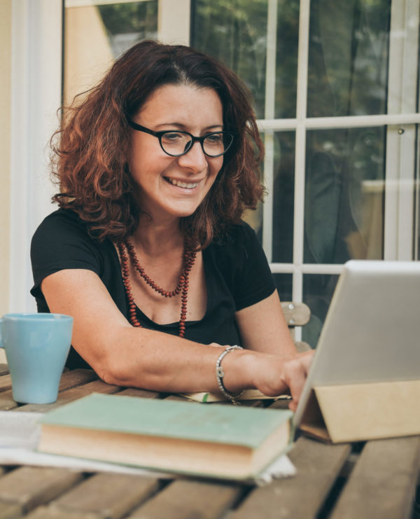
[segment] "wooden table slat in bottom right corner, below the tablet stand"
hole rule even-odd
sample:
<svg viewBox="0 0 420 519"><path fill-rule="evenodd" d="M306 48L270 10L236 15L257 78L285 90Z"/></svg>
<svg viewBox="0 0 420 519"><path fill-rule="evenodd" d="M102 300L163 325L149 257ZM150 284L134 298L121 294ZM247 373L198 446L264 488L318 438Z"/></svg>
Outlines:
<svg viewBox="0 0 420 519"><path fill-rule="evenodd" d="M370 441L331 519L407 519L420 463L420 436Z"/></svg>

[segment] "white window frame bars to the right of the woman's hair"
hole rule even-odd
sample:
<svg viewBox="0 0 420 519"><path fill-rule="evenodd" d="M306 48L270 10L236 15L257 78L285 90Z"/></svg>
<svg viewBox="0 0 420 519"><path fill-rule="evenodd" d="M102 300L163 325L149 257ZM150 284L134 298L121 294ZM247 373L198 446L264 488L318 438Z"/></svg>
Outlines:
<svg viewBox="0 0 420 519"><path fill-rule="evenodd" d="M378 116L346 116L307 118L307 74L309 55L310 0L300 1L299 43L297 50L296 118L274 119L273 83L275 78L275 20L276 0L269 0L267 20L267 71L265 119L258 120L265 132L265 181L273 191L274 145L273 133L295 131L295 198L293 222L293 263L272 263L272 207L269 195L264 205L262 245L273 273L293 275L293 300L302 301L304 274L339 274L342 265L304 263L304 174L307 130L346 127L387 126L386 186L390 181L398 188L386 189L384 259L412 260L414 257L413 229L417 228L419 207L414 212L413 179L415 157L415 128L420 123L416 113L416 81L418 71L413 66L418 49L419 0L393 0L391 4L391 41L389 88L393 98L388 113ZM274 34L274 43L273 43ZM401 38L401 34L406 34ZM402 133L402 130L403 133ZM402 139L401 137L404 137ZM418 188L418 186L417 186ZM413 221L417 214L417 221ZM299 331L297 330L297 334ZM300 337L297 336L297 340Z"/></svg>

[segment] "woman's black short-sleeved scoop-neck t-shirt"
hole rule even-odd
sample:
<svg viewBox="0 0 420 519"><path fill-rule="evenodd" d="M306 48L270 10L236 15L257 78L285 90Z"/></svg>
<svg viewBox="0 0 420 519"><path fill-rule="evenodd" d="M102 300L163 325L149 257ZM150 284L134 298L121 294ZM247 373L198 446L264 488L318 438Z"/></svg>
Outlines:
<svg viewBox="0 0 420 519"><path fill-rule="evenodd" d="M207 310L200 321L186 322L186 338L209 344L241 344L235 312L267 298L275 289L267 258L247 223L232 226L225 237L202 251L207 284ZM120 261L111 240L99 242L87 233L79 216L58 209L41 223L31 242L31 263L38 312L49 312L41 282L58 270L81 268L95 272L109 291L120 312L129 319L129 307ZM178 335L179 323L157 324L137 308L141 326ZM71 349L69 368L87 364Z"/></svg>

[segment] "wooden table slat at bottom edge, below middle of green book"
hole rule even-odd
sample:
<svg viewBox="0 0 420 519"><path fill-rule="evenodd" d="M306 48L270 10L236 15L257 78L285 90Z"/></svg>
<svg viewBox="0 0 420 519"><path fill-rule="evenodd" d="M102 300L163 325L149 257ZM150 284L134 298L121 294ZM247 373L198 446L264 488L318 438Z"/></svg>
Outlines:
<svg viewBox="0 0 420 519"><path fill-rule="evenodd" d="M217 519L240 494L235 484L174 480L127 519Z"/></svg>

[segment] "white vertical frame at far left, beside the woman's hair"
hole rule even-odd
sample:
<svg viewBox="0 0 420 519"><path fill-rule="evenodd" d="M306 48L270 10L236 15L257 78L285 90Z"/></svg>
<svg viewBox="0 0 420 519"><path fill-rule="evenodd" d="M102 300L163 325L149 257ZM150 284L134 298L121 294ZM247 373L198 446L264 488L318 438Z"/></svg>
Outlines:
<svg viewBox="0 0 420 519"><path fill-rule="evenodd" d="M62 4L12 2L10 135L10 312L34 312L29 247L53 210L48 141L58 125L62 92Z"/></svg>

